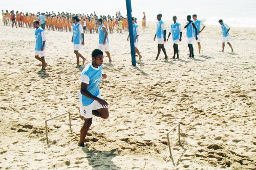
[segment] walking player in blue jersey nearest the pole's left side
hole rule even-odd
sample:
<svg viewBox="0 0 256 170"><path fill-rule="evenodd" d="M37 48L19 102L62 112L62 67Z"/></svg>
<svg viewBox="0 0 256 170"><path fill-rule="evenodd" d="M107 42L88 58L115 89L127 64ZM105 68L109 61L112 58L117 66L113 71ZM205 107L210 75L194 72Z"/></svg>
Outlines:
<svg viewBox="0 0 256 170"><path fill-rule="evenodd" d="M111 56L110 56L110 43L109 43L109 37L108 37L108 32L106 31L105 26L103 25L103 20L102 18L98 19L98 33L99 33L99 50L102 50L103 52L106 53L106 55L109 57L110 63L112 62Z"/></svg>

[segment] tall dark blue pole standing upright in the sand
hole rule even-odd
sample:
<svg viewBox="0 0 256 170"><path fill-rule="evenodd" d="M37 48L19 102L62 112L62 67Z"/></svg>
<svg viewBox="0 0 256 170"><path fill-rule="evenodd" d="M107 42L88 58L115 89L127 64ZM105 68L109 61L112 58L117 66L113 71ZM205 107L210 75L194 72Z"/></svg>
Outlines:
<svg viewBox="0 0 256 170"><path fill-rule="evenodd" d="M134 46L134 37L133 37L132 3L131 3L131 0L125 0L125 1L126 1L129 33L130 33L132 64L133 66L136 66L135 46Z"/></svg>

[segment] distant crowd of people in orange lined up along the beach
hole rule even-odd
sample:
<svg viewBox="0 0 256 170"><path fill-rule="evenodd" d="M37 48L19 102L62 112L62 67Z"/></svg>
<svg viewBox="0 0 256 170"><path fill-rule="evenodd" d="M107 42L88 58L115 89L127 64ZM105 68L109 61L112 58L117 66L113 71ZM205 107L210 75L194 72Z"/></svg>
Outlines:
<svg viewBox="0 0 256 170"><path fill-rule="evenodd" d="M52 31L60 31L60 32L72 32L72 17L77 16L79 19L79 23L83 28L84 33L98 33L98 18L103 19L103 25L106 28L106 31L109 33L113 33L116 30L117 33L122 33L122 30L127 32L128 31L128 19L121 15L120 11L116 12L114 16L97 16L94 14L72 14L68 12L46 12L46 13L23 13L23 12L14 12L14 10L8 12L8 10L2 10L3 22L6 26L12 27L15 25L16 28L32 28L33 21L39 21L39 26L42 29L52 30ZM145 28L145 13L143 14L143 23L142 27ZM135 22L137 23L137 18L135 18Z"/></svg>

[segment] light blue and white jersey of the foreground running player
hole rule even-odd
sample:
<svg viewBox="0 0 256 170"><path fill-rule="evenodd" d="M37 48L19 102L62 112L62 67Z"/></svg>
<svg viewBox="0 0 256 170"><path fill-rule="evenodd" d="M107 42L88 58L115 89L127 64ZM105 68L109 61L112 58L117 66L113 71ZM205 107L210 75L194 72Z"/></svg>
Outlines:
<svg viewBox="0 0 256 170"><path fill-rule="evenodd" d="M99 66L98 68L95 68L92 63L88 64L86 67L83 68L81 72L81 78L83 75L86 75L87 78L89 78L89 85L88 85L88 91L94 95L98 96L100 94L99 92L99 84L101 82L102 77L102 66ZM82 80L83 81L83 80ZM88 82L86 82L88 83ZM82 98L82 105L88 106L93 103L94 100L87 98L86 96L82 95L81 92L79 93L79 99Z"/></svg>

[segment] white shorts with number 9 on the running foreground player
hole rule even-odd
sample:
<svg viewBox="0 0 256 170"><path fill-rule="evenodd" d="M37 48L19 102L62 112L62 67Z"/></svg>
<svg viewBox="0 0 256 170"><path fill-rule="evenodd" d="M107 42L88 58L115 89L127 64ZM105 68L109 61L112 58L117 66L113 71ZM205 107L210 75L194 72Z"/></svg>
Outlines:
<svg viewBox="0 0 256 170"><path fill-rule="evenodd" d="M102 96L99 94L97 96L99 99L103 99ZM91 105L83 106L82 105L82 98L79 98L79 110L80 115L84 118L92 118L93 117L93 110L98 110L104 108L101 104L99 104L97 101L93 101Z"/></svg>

